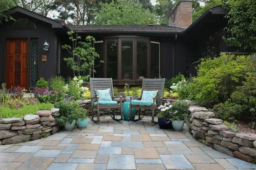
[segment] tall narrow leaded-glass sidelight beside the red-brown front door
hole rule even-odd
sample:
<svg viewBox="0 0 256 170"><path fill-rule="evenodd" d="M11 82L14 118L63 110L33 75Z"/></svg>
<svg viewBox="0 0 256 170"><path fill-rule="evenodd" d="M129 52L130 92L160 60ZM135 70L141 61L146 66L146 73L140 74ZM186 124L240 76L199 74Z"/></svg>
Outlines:
<svg viewBox="0 0 256 170"><path fill-rule="evenodd" d="M31 39L30 43L30 87L36 87L38 80L38 39Z"/></svg>

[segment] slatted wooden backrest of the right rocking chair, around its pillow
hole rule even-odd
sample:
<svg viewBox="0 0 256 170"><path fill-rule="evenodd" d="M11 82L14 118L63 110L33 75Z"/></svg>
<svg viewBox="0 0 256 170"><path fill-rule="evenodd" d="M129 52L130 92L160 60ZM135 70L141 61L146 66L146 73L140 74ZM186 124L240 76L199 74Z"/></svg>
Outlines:
<svg viewBox="0 0 256 170"><path fill-rule="evenodd" d="M156 95L156 105L160 106L163 104L163 96L164 96L164 83L165 83L165 78L161 79L143 79L142 82L142 88L141 88L141 95L143 91L155 91L158 90L157 95Z"/></svg>

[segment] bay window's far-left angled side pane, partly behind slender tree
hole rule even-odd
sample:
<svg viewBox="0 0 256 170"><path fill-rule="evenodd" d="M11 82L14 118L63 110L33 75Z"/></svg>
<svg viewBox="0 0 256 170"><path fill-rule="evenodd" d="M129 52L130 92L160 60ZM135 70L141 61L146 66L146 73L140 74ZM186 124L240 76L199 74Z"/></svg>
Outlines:
<svg viewBox="0 0 256 170"><path fill-rule="evenodd" d="M103 42L97 42L94 43L95 52L97 52L100 55L100 58L95 58L94 60L94 70L96 71L94 73L95 78L104 78L103 75L103 63L101 63L101 60L103 59Z"/></svg>

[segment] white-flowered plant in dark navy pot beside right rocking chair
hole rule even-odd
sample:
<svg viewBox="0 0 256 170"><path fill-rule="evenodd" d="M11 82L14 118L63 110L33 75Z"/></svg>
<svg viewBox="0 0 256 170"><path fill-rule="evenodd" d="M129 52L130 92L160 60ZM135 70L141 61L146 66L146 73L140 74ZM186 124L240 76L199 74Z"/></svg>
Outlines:
<svg viewBox="0 0 256 170"><path fill-rule="evenodd" d="M161 129L170 129L172 128L172 123L171 123L171 108L172 105L171 103L165 103L164 105L161 105L158 107L160 109L160 113L157 115L158 118L158 126Z"/></svg>

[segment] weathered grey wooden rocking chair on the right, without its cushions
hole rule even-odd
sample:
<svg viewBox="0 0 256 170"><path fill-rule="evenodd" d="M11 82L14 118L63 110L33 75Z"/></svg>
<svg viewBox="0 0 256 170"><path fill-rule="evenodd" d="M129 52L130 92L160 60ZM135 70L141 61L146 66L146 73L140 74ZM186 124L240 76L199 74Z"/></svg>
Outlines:
<svg viewBox="0 0 256 170"><path fill-rule="evenodd" d="M140 95L139 100L141 100L143 91L158 90L156 97L153 98L154 102L156 102L156 105L152 104L151 106L139 106L139 105L132 104L132 100L131 100L130 108L129 108L129 120L130 121L134 121L134 122L140 121L144 117L144 116L140 117L141 109L150 109L150 110L152 110L152 120L151 120L151 122L154 123L154 124L158 124L158 122L154 121L154 116L155 116L154 114L155 114L155 109L158 109L158 107L163 104L164 82L165 82L165 78L163 78L163 79L143 79L142 88L141 88L141 95ZM139 112L138 112L139 119L131 120L131 109L132 108L138 108L139 109Z"/></svg>

